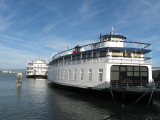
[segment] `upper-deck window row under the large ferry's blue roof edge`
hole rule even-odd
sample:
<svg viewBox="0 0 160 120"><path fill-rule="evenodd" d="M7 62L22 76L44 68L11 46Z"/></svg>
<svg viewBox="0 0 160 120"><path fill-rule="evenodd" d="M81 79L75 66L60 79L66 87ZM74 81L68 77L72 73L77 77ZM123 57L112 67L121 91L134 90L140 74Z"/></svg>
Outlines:
<svg viewBox="0 0 160 120"><path fill-rule="evenodd" d="M65 57L61 57L59 59L54 60L51 64L55 64L60 61L74 61L74 60L86 60L91 58L99 58L99 57L126 57L126 58L143 58L144 55L140 52L136 51L119 51L119 50L112 50L111 52L108 51L100 51L100 52L88 52L88 53L77 53L68 55Z"/></svg>

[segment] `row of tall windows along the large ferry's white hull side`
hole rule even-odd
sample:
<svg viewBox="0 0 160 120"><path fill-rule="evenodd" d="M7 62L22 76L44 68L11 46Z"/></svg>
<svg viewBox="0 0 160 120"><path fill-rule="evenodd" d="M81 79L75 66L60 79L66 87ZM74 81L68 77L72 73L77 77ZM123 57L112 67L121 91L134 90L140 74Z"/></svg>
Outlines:
<svg viewBox="0 0 160 120"><path fill-rule="evenodd" d="M98 69L98 80L103 80L103 69ZM56 79L64 79L64 80L77 80L78 75L80 75L80 80L93 80L93 69L88 69L85 71L84 69L74 69L74 70L55 70L54 76ZM87 78L88 77L88 78Z"/></svg>

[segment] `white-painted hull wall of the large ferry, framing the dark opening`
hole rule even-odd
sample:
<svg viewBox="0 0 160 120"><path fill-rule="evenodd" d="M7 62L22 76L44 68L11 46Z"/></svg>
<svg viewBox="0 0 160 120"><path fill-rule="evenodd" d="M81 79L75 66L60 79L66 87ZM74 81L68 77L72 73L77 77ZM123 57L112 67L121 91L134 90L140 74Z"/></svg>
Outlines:
<svg viewBox="0 0 160 120"><path fill-rule="evenodd" d="M91 60L88 61L87 63L81 63L77 65L65 65L65 66L50 66L48 70L48 80L52 82L56 82L62 85L67 85L67 86L76 86L79 88L92 88L92 89L105 89L105 88L110 88L111 84L111 67L113 65L119 65L119 66L144 66L148 68L148 79L152 79L152 70L151 70L151 65L138 65L138 64L109 64L105 63L105 59L102 60L99 63L96 63L97 60ZM84 70L84 78L81 80L81 74L80 70ZM92 69L92 80L89 80L89 74L88 70ZM103 69L103 77L102 81L99 80L99 74L98 70ZM69 71L71 70L71 78L69 78L68 73L66 73L66 76L64 75L58 75L57 71L59 72L64 72L66 70ZM74 71L77 71L76 77L74 79ZM79 73L79 74L78 74Z"/></svg>

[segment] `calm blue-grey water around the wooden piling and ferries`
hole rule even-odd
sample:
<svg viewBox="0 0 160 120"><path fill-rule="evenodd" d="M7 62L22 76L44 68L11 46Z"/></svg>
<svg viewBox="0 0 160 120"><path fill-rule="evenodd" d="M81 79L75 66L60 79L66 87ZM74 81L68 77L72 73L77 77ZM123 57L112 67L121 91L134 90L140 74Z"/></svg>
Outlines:
<svg viewBox="0 0 160 120"><path fill-rule="evenodd" d="M0 74L0 120L158 120L160 102L135 104L122 113L121 103L55 89L46 79L25 78L16 87L16 74ZM116 114L119 113L119 114Z"/></svg>

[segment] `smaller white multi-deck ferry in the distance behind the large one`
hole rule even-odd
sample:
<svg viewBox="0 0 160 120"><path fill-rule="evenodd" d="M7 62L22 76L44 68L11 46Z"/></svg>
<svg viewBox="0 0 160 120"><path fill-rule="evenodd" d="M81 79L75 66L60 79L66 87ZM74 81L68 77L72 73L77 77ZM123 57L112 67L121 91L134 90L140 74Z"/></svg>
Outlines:
<svg viewBox="0 0 160 120"><path fill-rule="evenodd" d="M48 75L48 63L42 59L35 59L28 61L26 68L26 77L31 78L47 78Z"/></svg>

